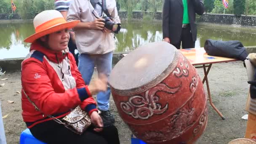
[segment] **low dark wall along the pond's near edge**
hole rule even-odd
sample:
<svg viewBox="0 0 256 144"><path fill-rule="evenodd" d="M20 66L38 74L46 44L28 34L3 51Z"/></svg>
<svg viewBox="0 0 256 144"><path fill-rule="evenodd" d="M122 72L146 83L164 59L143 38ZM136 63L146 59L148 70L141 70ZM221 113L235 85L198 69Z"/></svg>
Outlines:
<svg viewBox="0 0 256 144"><path fill-rule="evenodd" d="M247 53L256 53L256 46L250 46L246 48ZM117 64L120 59L124 57L124 54L129 53L114 53L113 54L113 62L112 64ZM0 67L2 67L3 71L16 71L21 69L21 62L24 58L16 58L16 59L0 59Z"/></svg>

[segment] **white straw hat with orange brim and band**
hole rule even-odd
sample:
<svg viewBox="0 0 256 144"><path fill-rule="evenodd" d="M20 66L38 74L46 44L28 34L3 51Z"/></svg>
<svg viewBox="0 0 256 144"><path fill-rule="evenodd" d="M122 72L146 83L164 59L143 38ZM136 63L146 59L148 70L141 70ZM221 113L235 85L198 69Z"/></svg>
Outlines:
<svg viewBox="0 0 256 144"><path fill-rule="evenodd" d="M27 37L24 42L33 43L40 37L62 29L72 29L80 21L67 22L59 11L48 10L38 13L34 18L35 34Z"/></svg>

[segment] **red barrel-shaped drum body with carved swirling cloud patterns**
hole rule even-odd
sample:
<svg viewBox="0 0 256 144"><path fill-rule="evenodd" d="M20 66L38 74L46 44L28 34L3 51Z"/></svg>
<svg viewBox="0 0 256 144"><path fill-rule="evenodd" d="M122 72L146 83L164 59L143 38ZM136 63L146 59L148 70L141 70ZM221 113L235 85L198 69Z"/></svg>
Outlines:
<svg viewBox="0 0 256 144"><path fill-rule="evenodd" d="M194 143L207 124L203 83L179 51L173 56L169 67L156 77L163 79L160 82L128 90L115 89L110 83L120 117L147 144Z"/></svg>

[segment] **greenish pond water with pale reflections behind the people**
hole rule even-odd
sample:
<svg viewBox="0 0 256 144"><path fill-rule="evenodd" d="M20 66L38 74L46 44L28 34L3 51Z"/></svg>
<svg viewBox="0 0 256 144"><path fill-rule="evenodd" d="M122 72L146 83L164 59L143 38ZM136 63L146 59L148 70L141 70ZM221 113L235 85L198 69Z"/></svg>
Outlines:
<svg viewBox="0 0 256 144"><path fill-rule="evenodd" d="M23 40L33 33L32 23L0 24L0 59L25 57L30 44ZM162 35L161 21L124 21L120 33L116 35L115 52L132 51L145 43L162 41ZM203 47L207 39L240 40L244 46L254 46L256 30L198 26L195 47Z"/></svg>

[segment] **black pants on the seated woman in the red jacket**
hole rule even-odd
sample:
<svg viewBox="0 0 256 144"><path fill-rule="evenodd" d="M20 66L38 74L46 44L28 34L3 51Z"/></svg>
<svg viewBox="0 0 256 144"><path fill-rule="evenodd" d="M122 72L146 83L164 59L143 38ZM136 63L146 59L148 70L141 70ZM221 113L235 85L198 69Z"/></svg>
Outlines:
<svg viewBox="0 0 256 144"><path fill-rule="evenodd" d="M89 127L78 135L53 120L39 123L29 129L35 138L47 144L120 144L117 128L107 125L101 132Z"/></svg>

